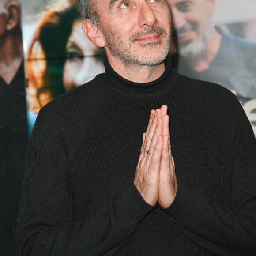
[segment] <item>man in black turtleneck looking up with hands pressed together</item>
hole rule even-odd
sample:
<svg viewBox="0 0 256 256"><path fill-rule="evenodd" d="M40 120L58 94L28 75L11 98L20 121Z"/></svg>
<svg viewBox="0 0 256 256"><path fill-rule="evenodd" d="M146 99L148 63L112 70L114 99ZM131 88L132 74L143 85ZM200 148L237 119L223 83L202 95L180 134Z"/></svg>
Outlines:
<svg viewBox="0 0 256 256"><path fill-rule="evenodd" d="M165 0L79 10L106 73L38 114L18 255L254 254L256 141L237 98L171 69Z"/></svg>

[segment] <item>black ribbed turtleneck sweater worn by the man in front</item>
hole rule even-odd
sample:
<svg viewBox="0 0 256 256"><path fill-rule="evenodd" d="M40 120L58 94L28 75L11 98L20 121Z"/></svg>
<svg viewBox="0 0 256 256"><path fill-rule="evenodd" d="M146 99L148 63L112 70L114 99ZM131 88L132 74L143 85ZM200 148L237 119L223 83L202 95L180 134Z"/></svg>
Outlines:
<svg viewBox="0 0 256 256"><path fill-rule="evenodd" d="M97 75L41 109L19 213L18 255L255 255L256 141L237 98L179 75ZM148 205L133 184L151 109L166 104L178 191Z"/></svg>

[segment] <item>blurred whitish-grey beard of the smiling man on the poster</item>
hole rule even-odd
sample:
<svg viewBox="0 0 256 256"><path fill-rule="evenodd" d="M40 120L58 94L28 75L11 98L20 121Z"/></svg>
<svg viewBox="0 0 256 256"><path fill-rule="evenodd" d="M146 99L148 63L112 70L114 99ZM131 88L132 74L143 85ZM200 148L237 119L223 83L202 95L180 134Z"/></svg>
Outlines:
<svg viewBox="0 0 256 256"><path fill-rule="evenodd" d="M201 53L206 48L207 42L212 36L212 27L211 19L208 19L203 29L199 31L198 40L188 45L180 46L179 54L183 57L189 57Z"/></svg>

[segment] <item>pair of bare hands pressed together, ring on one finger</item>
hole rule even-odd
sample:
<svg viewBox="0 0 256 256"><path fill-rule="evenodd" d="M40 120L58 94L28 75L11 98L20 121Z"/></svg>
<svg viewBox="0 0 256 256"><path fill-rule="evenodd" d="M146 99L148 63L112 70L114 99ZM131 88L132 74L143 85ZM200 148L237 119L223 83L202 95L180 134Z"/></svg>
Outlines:
<svg viewBox="0 0 256 256"><path fill-rule="evenodd" d="M147 151L150 154L147 154ZM136 168L134 184L143 199L167 208L177 192L177 179L172 157L167 106L151 110L147 131Z"/></svg>

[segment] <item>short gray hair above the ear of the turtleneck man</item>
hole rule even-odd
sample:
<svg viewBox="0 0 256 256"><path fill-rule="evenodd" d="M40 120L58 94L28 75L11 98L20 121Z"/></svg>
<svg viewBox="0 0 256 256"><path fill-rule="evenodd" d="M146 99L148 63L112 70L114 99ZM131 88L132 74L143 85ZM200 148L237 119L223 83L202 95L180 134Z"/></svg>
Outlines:
<svg viewBox="0 0 256 256"><path fill-rule="evenodd" d="M100 24L96 3L92 3L92 0L78 0L77 9L82 19L90 19L93 24Z"/></svg>

